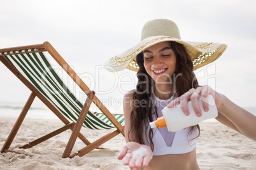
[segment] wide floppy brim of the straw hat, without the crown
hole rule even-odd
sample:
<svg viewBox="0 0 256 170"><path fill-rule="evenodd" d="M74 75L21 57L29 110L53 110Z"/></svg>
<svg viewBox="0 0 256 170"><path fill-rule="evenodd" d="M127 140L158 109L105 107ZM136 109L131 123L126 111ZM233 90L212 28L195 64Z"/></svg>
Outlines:
<svg viewBox="0 0 256 170"><path fill-rule="evenodd" d="M169 36L152 36L139 42L133 48L127 49L123 53L114 56L106 62L105 66L111 72L129 69L138 71L139 67L136 63L136 56L144 51L146 48L153 46L159 42L175 41L183 44L187 49L187 53L193 63L193 70L199 69L208 63L214 62L224 53L227 48L226 44L219 44L213 42L189 42L181 39L176 39Z"/></svg>

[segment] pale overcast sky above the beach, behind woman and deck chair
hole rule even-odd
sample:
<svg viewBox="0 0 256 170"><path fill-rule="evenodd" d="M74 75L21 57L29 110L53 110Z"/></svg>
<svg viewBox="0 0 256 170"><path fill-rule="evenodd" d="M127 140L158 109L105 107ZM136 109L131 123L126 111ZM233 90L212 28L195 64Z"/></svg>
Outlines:
<svg viewBox="0 0 256 170"><path fill-rule="evenodd" d="M216 62L195 71L197 79L241 107L255 107L254 0L2 0L0 4L0 48L50 42L111 112L122 112L122 98L135 88L137 79L136 72L127 69L108 72L104 62L138 44L143 25L155 18L173 20L185 41L227 44ZM0 102L25 103L30 91L3 63L0 72ZM83 100L79 89L71 88Z"/></svg>

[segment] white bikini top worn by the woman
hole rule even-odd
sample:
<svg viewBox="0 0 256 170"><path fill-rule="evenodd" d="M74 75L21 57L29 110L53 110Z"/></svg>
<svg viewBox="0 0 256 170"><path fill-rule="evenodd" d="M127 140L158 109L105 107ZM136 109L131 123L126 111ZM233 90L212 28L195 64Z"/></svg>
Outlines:
<svg viewBox="0 0 256 170"><path fill-rule="evenodd" d="M157 96L152 95L153 103L157 107L157 114L159 117L162 116L162 109L167 106L167 104L175 98L174 94L168 100L160 100ZM152 111L153 112L153 111ZM153 120L155 121L157 117L153 115ZM148 131L150 126L148 126ZM153 130L153 155L166 155L166 154L185 154L191 152L196 148L196 138L198 130L194 130L192 133L188 133L190 128L183 129L176 133L169 132L166 127L164 128L154 128ZM148 142L149 140L145 140ZM150 146L150 143L146 143Z"/></svg>

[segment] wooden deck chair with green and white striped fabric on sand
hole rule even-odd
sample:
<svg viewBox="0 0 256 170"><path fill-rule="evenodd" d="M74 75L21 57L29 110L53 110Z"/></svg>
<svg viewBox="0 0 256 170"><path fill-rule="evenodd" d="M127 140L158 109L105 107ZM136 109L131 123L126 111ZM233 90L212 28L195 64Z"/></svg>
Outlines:
<svg viewBox="0 0 256 170"><path fill-rule="evenodd" d="M52 56L60 67L62 67L87 95L84 103L76 98L74 93L70 91L68 86L66 86L64 81L60 78L59 74L53 69L51 63L46 58L46 53ZM60 121L64 123L64 126L20 148L31 148L63 131L71 129L72 133L62 157L83 156L117 136L117 134L121 133L124 135L124 115L111 114L97 98L95 92L89 89L85 82L78 77L76 72L71 69L68 63L66 63L49 42L31 46L0 49L0 60L31 90L31 95L25 103L13 129L11 129L1 152L24 154L15 150L9 150L9 148L35 97L38 97L39 100L50 108L50 110L59 117ZM90 112L89 108L92 102L101 110L101 114ZM90 141L80 133L82 126L90 129L116 129L90 143ZM86 146L78 150L78 152L71 154L76 138L80 138Z"/></svg>

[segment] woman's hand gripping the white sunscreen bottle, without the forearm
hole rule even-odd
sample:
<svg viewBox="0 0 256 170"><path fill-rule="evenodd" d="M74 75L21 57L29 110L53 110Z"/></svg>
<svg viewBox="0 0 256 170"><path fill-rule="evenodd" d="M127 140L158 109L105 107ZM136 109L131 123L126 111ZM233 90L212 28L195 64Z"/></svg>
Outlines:
<svg viewBox="0 0 256 170"><path fill-rule="evenodd" d="M217 91L214 91L210 86L204 85L201 87L198 87L196 89L190 89L180 97L176 98L175 100L171 101L167 107L171 108L176 105L180 105L181 110L185 115L189 115L188 110L188 101L191 101L192 106L194 108L194 111L196 112L198 117L201 117L202 110L199 107L199 99L203 102L203 108L205 112L208 112L209 110L209 104L208 104L208 95L213 96L213 99L215 100L217 108L220 108L222 105L222 95L217 93Z"/></svg>

